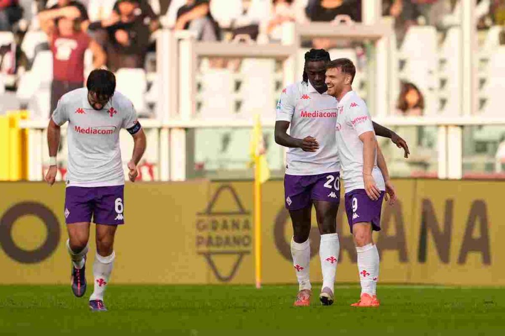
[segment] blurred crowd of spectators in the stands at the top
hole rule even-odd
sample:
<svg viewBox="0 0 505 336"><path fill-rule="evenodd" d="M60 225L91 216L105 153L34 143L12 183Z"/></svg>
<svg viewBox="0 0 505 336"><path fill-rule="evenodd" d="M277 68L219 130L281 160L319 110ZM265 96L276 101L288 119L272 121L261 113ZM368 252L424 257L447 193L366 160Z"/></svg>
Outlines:
<svg viewBox="0 0 505 336"><path fill-rule="evenodd" d="M380 1L380 0L377 0ZM459 0L383 0L383 15L394 18L398 41L413 25L446 29L457 25ZM478 0L478 27L505 23L505 0ZM360 22L361 0L0 0L1 31L14 33L15 61L2 73L29 70L39 50L53 52L52 108L67 91L85 80L84 55L91 50L93 67L145 68L145 56L156 49L153 37L164 26L192 31L205 41L252 40L258 43L281 39L286 21ZM47 41L35 43L34 52L20 49L23 38L34 31ZM5 45L5 44L7 45ZM0 38L0 56L11 52ZM310 46L331 48L328 39L314 39ZM308 45L306 45L308 46ZM412 83L402 83L397 112L421 115L422 93Z"/></svg>

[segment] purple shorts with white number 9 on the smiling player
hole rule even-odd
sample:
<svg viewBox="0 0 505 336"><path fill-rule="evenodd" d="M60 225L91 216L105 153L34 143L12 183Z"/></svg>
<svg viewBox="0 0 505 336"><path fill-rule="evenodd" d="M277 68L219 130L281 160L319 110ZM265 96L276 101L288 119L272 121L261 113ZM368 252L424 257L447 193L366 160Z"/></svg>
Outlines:
<svg viewBox="0 0 505 336"><path fill-rule="evenodd" d="M355 189L345 193L345 213L350 232L355 223L372 223L373 231L380 231L380 213L384 191L379 199L371 200L365 189Z"/></svg>

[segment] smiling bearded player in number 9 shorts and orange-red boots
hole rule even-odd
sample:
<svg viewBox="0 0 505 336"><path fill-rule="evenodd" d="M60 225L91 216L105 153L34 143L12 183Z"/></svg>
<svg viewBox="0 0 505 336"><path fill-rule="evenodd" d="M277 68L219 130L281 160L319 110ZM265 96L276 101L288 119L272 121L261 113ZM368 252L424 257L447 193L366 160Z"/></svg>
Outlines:
<svg viewBox="0 0 505 336"><path fill-rule="evenodd" d="M345 212L358 254L361 297L355 307L377 307L379 252L372 231L380 230L382 200L396 199L365 101L352 91L355 65L347 58L326 65L328 94L338 100L336 140L345 186ZM386 196L387 199L387 196Z"/></svg>

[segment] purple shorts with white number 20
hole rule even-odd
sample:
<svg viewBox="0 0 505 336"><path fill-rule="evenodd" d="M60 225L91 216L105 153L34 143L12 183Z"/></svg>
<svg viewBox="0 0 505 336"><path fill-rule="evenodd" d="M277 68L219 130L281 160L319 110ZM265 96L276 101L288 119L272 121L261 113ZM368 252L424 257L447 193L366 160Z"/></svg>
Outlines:
<svg viewBox="0 0 505 336"><path fill-rule="evenodd" d="M284 175L286 209L299 210L312 205L313 200L339 204L340 173L318 175Z"/></svg>

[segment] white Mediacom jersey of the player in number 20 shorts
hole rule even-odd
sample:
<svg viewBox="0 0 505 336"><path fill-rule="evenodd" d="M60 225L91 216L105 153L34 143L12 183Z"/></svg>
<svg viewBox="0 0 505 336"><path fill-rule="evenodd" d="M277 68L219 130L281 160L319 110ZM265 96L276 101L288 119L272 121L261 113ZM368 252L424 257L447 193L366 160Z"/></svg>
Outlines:
<svg viewBox="0 0 505 336"><path fill-rule="evenodd" d="M317 92L310 83L298 82L282 90L275 120L291 123L291 137L304 139L311 136L319 143L316 152L289 148L286 154L286 174L317 175L340 170L335 141L337 103L326 92Z"/></svg>

